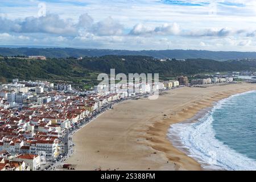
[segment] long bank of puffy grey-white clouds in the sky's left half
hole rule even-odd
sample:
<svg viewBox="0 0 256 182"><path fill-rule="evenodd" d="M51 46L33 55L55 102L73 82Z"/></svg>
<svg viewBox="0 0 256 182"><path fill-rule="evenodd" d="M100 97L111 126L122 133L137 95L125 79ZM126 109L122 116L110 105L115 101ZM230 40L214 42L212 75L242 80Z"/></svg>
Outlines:
<svg viewBox="0 0 256 182"><path fill-rule="evenodd" d="M121 35L123 26L111 17L94 23L88 14L82 14L79 22L72 19L61 19L59 15L29 16L24 20L0 18L0 32L46 33L63 36L76 36L80 31L93 32L96 35Z"/></svg>

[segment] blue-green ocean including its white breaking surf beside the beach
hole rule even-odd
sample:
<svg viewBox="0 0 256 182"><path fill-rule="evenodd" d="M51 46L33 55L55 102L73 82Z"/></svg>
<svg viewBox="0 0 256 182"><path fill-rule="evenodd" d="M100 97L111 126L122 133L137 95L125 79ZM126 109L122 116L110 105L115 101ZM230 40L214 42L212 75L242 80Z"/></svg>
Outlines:
<svg viewBox="0 0 256 182"><path fill-rule="evenodd" d="M197 122L172 125L167 135L205 169L256 170L256 91L225 98Z"/></svg>

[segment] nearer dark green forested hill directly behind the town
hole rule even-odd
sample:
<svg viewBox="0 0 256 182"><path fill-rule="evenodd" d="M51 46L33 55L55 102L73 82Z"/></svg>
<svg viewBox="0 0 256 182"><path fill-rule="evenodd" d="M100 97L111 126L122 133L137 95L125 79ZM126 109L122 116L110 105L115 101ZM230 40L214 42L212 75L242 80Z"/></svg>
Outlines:
<svg viewBox="0 0 256 182"><path fill-rule="evenodd" d="M160 77L224 71L255 71L256 61L188 59L159 61L147 56L101 56L77 59L0 59L0 77L11 79L90 80L98 73L159 73Z"/></svg>

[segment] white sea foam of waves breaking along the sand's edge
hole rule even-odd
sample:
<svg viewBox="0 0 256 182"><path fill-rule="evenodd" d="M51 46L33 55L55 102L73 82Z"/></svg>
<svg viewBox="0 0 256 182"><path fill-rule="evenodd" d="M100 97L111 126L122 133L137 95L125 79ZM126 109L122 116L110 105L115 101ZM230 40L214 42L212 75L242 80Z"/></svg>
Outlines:
<svg viewBox="0 0 256 182"><path fill-rule="evenodd" d="M241 94L253 92L255 91ZM167 134L171 142L181 151L186 152L188 156L196 159L204 168L255 170L256 161L236 152L216 139L212 126L214 110L221 109L222 105L230 101L232 97L237 97L241 94L236 94L217 102L212 110L208 111L197 123L171 125Z"/></svg>

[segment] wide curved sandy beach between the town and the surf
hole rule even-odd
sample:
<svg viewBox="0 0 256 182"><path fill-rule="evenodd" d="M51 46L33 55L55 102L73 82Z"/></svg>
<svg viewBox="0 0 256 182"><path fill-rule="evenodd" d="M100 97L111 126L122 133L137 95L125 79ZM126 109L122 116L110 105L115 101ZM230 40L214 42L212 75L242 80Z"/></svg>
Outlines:
<svg viewBox="0 0 256 182"><path fill-rule="evenodd" d="M201 109L256 84L179 88L158 100L129 100L115 105L73 137L75 154L67 160L76 170L201 170L194 159L167 138L170 125L192 118Z"/></svg>

